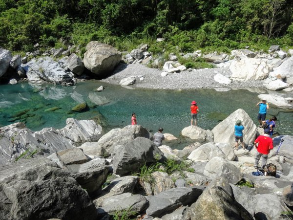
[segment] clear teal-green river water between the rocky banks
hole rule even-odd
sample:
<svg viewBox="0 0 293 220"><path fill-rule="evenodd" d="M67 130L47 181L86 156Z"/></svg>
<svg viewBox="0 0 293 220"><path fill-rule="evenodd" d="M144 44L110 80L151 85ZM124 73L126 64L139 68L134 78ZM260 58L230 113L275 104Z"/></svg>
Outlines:
<svg viewBox="0 0 293 220"><path fill-rule="evenodd" d="M101 85L105 90L96 92L95 89ZM46 127L60 129L65 126L68 117L81 120L101 118L102 114L106 132L131 124L131 113L135 112L138 124L149 131L156 132L159 127L163 127L164 132L178 137L182 129L190 125L189 108L192 100L199 106L198 126L211 130L220 120L239 108L245 110L257 124L258 108L255 105L260 101L257 95L246 89L225 92L214 89L127 89L95 80L72 87L28 83L1 85L0 126L23 121L33 131ZM88 111L70 111L83 102L88 104ZM292 112L270 108L267 117L271 115L278 118L275 131L293 135ZM181 145L177 148L181 148Z"/></svg>

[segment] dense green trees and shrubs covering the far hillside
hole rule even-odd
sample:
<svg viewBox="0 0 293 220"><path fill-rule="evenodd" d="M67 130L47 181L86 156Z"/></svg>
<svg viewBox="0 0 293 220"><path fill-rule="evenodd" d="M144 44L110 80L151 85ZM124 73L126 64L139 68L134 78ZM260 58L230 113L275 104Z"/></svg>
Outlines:
<svg viewBox="0 0 293 220"><path fill-rule="evenodd" d="M225 51L293 45L292 0L0 0L0 46L32 50L60 38L128 50ZM157 37L166 42L154 44Z"/></svg>

